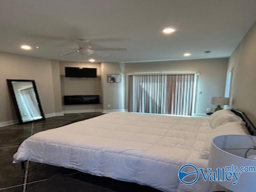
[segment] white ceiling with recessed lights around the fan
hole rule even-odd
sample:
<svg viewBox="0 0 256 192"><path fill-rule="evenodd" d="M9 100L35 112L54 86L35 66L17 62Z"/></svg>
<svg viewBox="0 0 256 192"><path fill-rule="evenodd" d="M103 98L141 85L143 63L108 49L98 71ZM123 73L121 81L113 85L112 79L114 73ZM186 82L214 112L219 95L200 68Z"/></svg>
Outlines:
<svg viewBox="0 0 256 192"><path fill-rule="evenodd" d="M74 39L127 47L96 61L228 57L256 20L256 0L1 0L0 50L42 58L84 61L65 49L21 50L21 44L77 48ZM161 29L176 32L166 36ZM212 53L205 54L205 50Z"/></svg>

